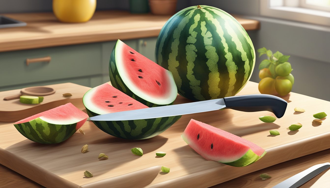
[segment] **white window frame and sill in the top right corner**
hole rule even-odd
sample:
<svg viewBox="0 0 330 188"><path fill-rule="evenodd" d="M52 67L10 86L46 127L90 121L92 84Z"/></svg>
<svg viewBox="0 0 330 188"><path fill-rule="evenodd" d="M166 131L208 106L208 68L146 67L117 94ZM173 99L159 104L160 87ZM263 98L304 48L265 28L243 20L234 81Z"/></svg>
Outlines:
<svg viewBox="0 0 330 188"><path fill-rule="evenodd" d="M299 1L301 0L260 0L260 14L262 16L330 26L330 12L300 7Z"/></svg>

